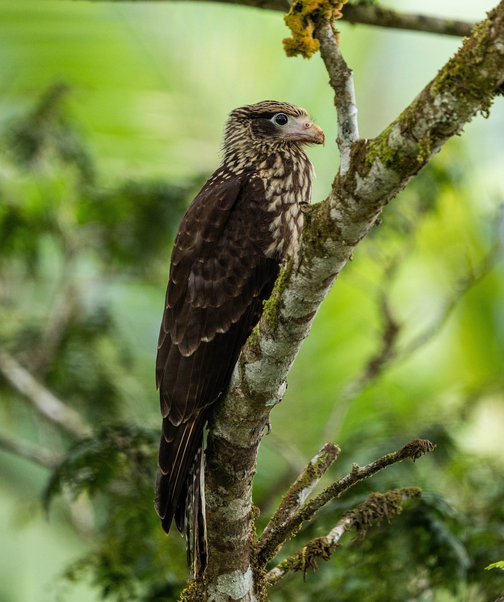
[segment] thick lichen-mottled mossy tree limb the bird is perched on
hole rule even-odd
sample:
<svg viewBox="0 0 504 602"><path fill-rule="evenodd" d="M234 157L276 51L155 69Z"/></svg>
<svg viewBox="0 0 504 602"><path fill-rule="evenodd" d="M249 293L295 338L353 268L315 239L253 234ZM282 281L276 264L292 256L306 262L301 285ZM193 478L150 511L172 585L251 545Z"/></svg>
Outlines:
<svg viewBox="0 0 504 602"><path fill-rule="evenodd" d="M331 194L305 217L300 252L281 270L209 423L210 600L251 599L251 484L269 412L283 397L287 373L322 300L384 206L450 137L490 108L504 81L503 19L504 0L395 122L373 140L352 145L348 171L336 175Z"/></svg>

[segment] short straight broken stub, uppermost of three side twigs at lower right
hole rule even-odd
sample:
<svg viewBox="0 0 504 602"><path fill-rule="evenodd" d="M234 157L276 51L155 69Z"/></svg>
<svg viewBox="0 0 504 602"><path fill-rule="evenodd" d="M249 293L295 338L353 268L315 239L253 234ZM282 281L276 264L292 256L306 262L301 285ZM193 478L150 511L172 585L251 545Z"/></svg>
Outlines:
<svg viewBox="0 0 504 602"><path fill-rule="evenodd" d="M296 482L288 489L285 497L278 506L277 511L271 517L259 538L259 545L263 547L269 541L278 527L284 526L307 500L310 493L321 479L325 471L336 460L340 448L334 443L326 443L320 452L313 458Z"/></svg>

